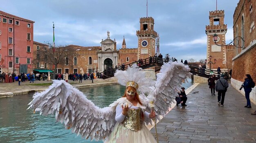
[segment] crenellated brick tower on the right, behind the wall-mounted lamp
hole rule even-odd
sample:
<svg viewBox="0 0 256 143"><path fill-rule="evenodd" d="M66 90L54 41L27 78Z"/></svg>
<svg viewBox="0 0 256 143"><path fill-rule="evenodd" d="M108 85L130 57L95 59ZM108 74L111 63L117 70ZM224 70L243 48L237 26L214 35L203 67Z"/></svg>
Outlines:
<svg viewBox="0 0 256 143"><path fill-rule="evenodd" d="M217 43L221 44L225 41L225 35L227 32L227 24L224 24L224 10L216 10L209 12L210 25L206 26L205 33L207 35L207 62L209 61L209 56L212 56L211 61L214 62L216 59L216 64L211 64L211 69L217 69L220 66L222 71L227 70L227 54L225 46L218 46L213 41L213 35L218 35ZM210 64L207 65L207 68Z"/></svg>

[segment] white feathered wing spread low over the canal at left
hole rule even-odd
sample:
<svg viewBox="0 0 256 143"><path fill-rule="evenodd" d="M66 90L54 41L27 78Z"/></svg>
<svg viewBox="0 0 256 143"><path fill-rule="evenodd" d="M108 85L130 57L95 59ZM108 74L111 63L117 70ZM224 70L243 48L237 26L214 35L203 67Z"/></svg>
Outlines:
<svg viewBox="0 0 256 143"><path fill-rule="evenodd" d="M29 108L40 111L40 115L55 114L56 121L64 122L66 129L98 141L107 139L112 132L118 103L117 100L109 107L99 108L65 80L54 80L49 89L34 95Z"/></svg>

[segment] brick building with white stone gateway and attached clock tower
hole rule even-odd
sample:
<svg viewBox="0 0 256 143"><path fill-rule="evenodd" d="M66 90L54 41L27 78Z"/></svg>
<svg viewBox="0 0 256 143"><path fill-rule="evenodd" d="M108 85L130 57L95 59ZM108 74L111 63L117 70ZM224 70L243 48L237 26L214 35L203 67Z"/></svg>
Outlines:
<svg viewBox="0 0 256 143"><path fill-rule="evenodd" d="M155 39L157 32L154 31L154 19L152 17L140 18L140 29L136 31L138 37L137 48L126 48L125 38L122 47L117 50L115 39L107 38L101 40L100 46L83 47L78 45L68 45L76 48L77 54L73 62L58 65L57 73L96 73L103 72L109 67L119 67L138 59L148 58L155 55Z"/></svg>

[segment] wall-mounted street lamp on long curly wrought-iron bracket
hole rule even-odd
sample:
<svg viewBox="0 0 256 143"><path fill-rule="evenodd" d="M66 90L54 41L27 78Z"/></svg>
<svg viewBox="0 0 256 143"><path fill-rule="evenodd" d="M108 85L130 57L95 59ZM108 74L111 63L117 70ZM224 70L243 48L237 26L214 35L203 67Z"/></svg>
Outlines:
<svg viewBox="0 0 256 143"><path fill-rule="evenodd" d="M230 45L230 44L232 43L236 48L245 48L245 46L244 46L245 40L244 40L242 37L240 37L240 36L235 37L235 38L233 39L233 41L231 41L231 42L228 43L228 44L226 44L225 41L222 41L221 44L218 44L217 40L218 40L218 35L217 35L217 34L214 34L214 35L213 35L213 41L214 41L214 43L215 43L216 45L218 45L218 46L226 46L226 45ZM235 40L236 40L236 42L234 42ZM239 44L240 41L243 43L242 45Z"/></svg>

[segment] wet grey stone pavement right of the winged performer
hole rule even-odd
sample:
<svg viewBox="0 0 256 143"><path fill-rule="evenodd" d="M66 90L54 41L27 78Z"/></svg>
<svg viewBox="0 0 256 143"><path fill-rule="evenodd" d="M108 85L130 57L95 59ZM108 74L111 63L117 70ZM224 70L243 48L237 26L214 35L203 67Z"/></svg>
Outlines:
<svg viewBox="0 0 256 143"><path fill-rule="evenodd" d="M157 123L159 143L256 143L256 115L251 115L256 106L245 108L245 97L230 84L224 106L207 83L195 87L186 104ZM150 131L155 135L155 128Z"/></svg>

